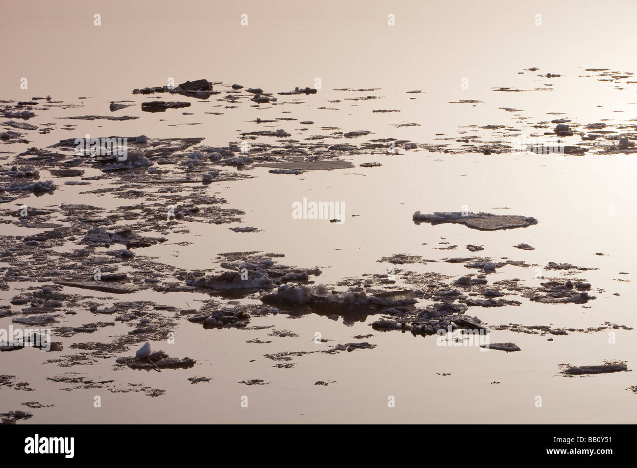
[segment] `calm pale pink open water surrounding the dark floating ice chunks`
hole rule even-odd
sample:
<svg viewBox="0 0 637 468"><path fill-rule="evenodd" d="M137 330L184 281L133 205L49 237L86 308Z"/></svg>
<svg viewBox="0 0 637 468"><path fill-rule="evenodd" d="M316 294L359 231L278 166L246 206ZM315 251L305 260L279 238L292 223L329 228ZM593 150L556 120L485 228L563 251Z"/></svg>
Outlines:
<svg viewBox="0 0 637 468"><path fill-rule="evenodd" d="M505 1L248 1L236 6L162 0L112 1L99 6L78 1L65 5L61 8L45 3L35 8L34 3L17 1L0 5L0 36L5 51L0 69L2 99L50 95L55 101L83 106L52 108L29 120L34 125L56 122L61 127L63 122L77 126L71 132L61 128L48 134L32 132L28 146L44 148L87 133L204 137L206 145L225 146L240 141L240 132L262 129L285 129L291 138L301 141L310 135L328 135L325 141L329 142L333 131L320 127L338 127L343 132L372 132L354 141L340 139L339 143L397 138L415 143L452 143L453 148L460 148L462 143L456 140L471 134L483 141L511 145L522 135L542 132L533 127L538 122L560 117L580 125L603 121L609 127L635 129L635 85L625 83L630 78L622 85L609 84L584 71L608 68L618 74L637 72L637 60L630 52L637 46L637 4L631 1L536 1L532 6ZM99 26L94 25L96 13L101 15ZM246 26L241 25L244 13L248 15ZM395 15L393 26L388 25L390 14ZM541 25L536 15L541 15ZM538 67L539 71L528 71L529 67ZM539 76L544 73L561 76ZM28 80L27 90L20 89L22 77ZM218 89L227 90L228 84L240 83L266 92L314 87L315 78L320 78L321 88L315 95L299 97L298 104L291 104L297 97L291 96L280 98L285 102L281 106L255 108L243 103L224 109L225 104L215 97L209 101L185 98L192 101L192 106L185 109L192 115L182 115L181 110L143 113L140 106L134 106L113 115L139 116L138 120L56 120L71 115L107 115L111 101L142 102L145 98L132 95L132 89L166 85L169 78L175 83L206 78L224 83ZM499 87L524 92L493 90ZM341 88L377 90L336 90ZM546 90L536 90L543 88ZM408 94L410 90L422 93ZM378 99L345 99L361 96ZM452 104L463 99L482 102ZM257 117L297 120L259 125L252 122ZM309 131L301 131L301 121L314 124ZM412 122L419 125L392 126ZM480 128L486 125L510 128ZM257 141L273 143L268 138ZM567 141L575 144L580 138L575 135ZM3 145L1 149L9 152L10 160L26 146ZM284 253L280 262L318 266L323 271L319 281L334 285L343 278L386 273L392 265L378 260L394 253L442 260L471 255L465 245L483 245L483 257L506 257L538 266L569 262L595 268L577 275L592 284L591 294L597 296L587 304L590 308L526 299L519 307L471 308L471 315L489 325L551 324L586 329L611 322L637 327L634 287L629 281L617 281L630 280L637 263L634 155L591 151L581 156L555 157L506 151L483 155L415 150L348 155L343 159L355 167L307 171L300 176L271 174L264 167L255 167L249 171L252 178L213 183L208 187L210 194L218 194L231 208L245 211L243 222L236 225L258 227L259 231L241 234L227 229L227 225L191 223L189 233L171 234L169 242L146 248L143 254L183 269L215 270L222 252ZM382 167L359 167L362 162L372 161L382 163ZM90 174L87 171L85 175ZM51 177L44 174L43 178ZM118 190L109 180L96 181L90 188L99 187ZM52 195L28 196L15 203L51 208L81 198L83 203L115 211L120 204L130 204L108 194L83 194L85 190L85 186L60 185ZM304 197L343 202L345 221L295 220L290 216L292 204ZM534 216L538 224L483 232L462 225L412 222L416 210L461 211L463 206L471 211ZM2 230L3 234L25 235L28 229L3 224ZM444 246L440 244L443 241L458 247L437 250ZM519 243L533 245L535 250L513 247ZM605 255L596 255L598 252ZM468 273L462 264L441 261L398 267L450 276ZM620 272L629 275L620 276ZM538 281L535 274L535 267L515 266L496 273L497 279L520 278L529 284ZM560 274L552 272L549 276ZM0 303L8 304L16 294L15 288L25 286L11 285L11 290L0 292ZM86 290L66 290L87 294ZM112 301L108 294L90 295ZM192 306L197 299L208 297L152 291L128 296L125 300L155 301L180 308L185 308L186 302ZM606 330L572 332L554 336L553 341L547 341L549 336L492 332L497 336L491 336L491 341L512 341L522 348L520 352L504 353L481 352L471 346L437 346L435 337L376 332L369 327L370 319L353 324L314 314L252 319L251 325L275 325L275 329L292 330L298 335L283 338L269 337L271 329L204 330L184 320L175 330L175 344L152 343L154 349L170 346L171 355L197 359L193 369L183 371L114 371L113 362L108 360L61 369L43 364L46 359L36 350L0 353L2 373L18 376L19 381L28 381L34 388L28 394L0 388L0 410L18 409L25 401L55 405L33 410L34 417L26 423L636 420L637 395L626 390L637 385L631 372L585 378L558 375L558 364L592 365L605 359L625 360L631 369L637 360L634 330L613 330L614 343L609 343ZM83 318L83 322L87 320ZM10 323L10 318L0 318L0 327L6 329ZM98 330L90 341L108 341L117 327ZM366 341L377 347L335 355L304 355L295 358L296 364L290 369L273 367L275 362L263 356L278 351L316 350L313 340L317 332L341 343L371 333L373 336ZM272 342L245 343L255 338ZM65 353L66 345L79 339L82 336L62 339ZM64 384L46 379L66 371L143 383L166 390L166 394L149 398L143 393L103 389L64 392ZM212 380L191 385L186 378L196 375ZM269 384L238 384L252 378ZM336 382L320 386L314 385L316 381ZM95 395L101 395L101 408L93 406ZM244 395L250 400L248 408L240 405ZM395 397L395 408L388 408L390 396ZM538 396L541 408L536 406Z"/></svg>

